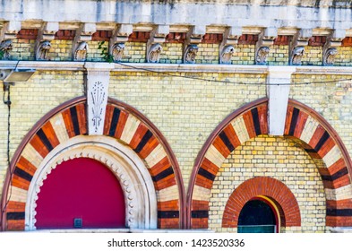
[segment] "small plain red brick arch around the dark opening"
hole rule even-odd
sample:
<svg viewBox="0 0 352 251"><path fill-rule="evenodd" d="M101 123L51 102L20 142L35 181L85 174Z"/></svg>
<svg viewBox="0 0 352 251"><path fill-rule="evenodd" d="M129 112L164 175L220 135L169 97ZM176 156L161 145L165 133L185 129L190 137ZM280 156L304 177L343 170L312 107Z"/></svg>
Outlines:
<svg viewBox="0 0 352 251"><path fill-rule="evenodd" d="M275 203L279 209L281 227L301 226L298 203L288 186L272 177L253 177L237 186L228 198L222 217L222 227L236 228L245 203L258 195L269 197L270 201Z"/></svg>

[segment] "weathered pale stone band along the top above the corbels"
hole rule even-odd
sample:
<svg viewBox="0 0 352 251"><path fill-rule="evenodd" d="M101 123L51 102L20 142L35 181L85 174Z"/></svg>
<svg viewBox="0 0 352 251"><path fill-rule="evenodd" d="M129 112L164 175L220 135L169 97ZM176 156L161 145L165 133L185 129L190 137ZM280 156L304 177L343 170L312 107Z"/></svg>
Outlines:
<svg viewBox="0 0 352 251"><path fill-rule="evenodd" d="M294 0L212 0L212 1L3 1L0 17L4 22L84 22L219 25L238 27L296 27L298 29L350 29L350 1ZM152 2L152 3L150 3ZM269 2L269 4L267 4ZM319 4L316 4L319 3ZM193 13L198 13L194 15ZM211 15L207 13L213 13ZM24 25L25 26L25 25ZM60 26L61 27L61 26Z"/></svg>

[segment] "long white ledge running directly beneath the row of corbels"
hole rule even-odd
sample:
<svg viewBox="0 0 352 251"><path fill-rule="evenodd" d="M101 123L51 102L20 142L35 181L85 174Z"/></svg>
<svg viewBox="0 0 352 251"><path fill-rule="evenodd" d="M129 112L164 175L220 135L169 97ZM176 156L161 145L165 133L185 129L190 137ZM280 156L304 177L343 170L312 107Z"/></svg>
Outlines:
<svg viewBox="0 0 352 251"><path fill-rule="evenodd" d="M18 63L18 65L17 65ZM193 65L193 64L147 64L123 63L110 64L104 62L72 62L72 61L0 61L0 70L33 68L38 71L86 71L94 65L105 67L112 72L146 72L161 73L219 73L219 74L269 74L275 69L290 69L292 65ZM137 69L138 68L138 69ZM144 69L144 70L143 70ZM352 75L352 66L296 66L292 74L343 74Z"/></svg>

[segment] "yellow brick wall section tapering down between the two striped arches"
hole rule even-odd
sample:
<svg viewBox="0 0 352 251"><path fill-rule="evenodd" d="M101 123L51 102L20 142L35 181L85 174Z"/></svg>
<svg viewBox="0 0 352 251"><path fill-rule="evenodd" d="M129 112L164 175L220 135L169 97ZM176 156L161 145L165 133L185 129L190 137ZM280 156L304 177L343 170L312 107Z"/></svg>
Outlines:
<svg viewBox="0 0 352 251"><path fill-rule="evenodd" d="M262 82L259 74L186 74L232 82ZM113 73L109 95L142 111L167 138L185 186L203 143L232 111L265 97L265 86L234 85L145 73Z"/></svg>

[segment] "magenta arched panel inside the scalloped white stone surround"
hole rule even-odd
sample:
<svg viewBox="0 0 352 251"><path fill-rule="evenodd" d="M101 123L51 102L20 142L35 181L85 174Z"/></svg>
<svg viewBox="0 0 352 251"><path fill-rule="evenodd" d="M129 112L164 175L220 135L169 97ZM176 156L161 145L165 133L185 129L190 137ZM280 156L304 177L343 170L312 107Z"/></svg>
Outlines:
<svg viewBox="0 0 352 251"><path fill-rule="evenodd" d="M36 212L37 229L125 227L124 193L116 176L89 158L66 160L47 175Z"/></svg>

